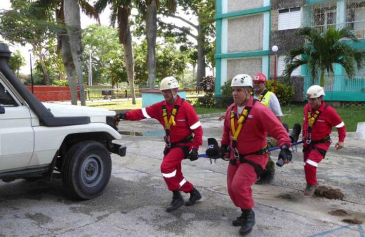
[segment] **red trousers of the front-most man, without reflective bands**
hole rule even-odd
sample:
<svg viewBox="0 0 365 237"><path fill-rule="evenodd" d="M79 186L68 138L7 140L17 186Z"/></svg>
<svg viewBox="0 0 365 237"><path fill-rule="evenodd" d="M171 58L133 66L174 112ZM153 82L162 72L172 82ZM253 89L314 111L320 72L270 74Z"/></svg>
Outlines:
<svg viewBox="0 0 365 237"><path fill-rule="evenodd" d="M264 157L264 156L262 156ZM265 167L269 155L265 156ZM228 164L227 170L227 188L228 194L233 203L241 209L251 209L254 207L251 186L256 182L257 174L254 166L243 163L232 165Z"/></svg>

